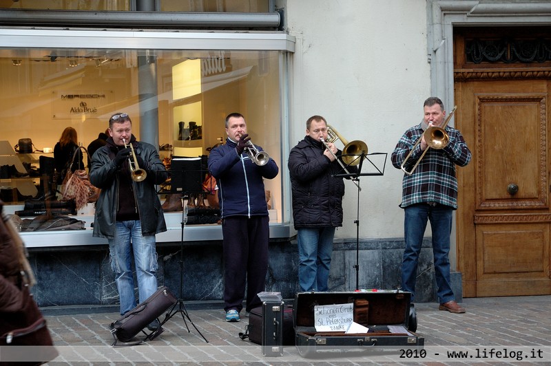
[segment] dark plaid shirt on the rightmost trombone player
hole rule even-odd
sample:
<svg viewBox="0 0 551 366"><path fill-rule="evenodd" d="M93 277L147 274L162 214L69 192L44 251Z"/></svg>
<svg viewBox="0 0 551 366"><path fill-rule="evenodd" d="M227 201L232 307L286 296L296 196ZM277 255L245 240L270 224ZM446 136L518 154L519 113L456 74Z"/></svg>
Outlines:
<svg viewBox="0 0 551 366"><path fill-rule="evenodd" d="M423 123L411 127L398 141L391 155L392 164L397 169L400 169L415 142L424 133L422 125ZM457 209L455 165L466 166L470 162L471 154L463 136L457 129L447 126L446 132L450 137L450 142L444 149L428 148L413 174L404 173L400 207L435 202ZM410 171L422 153L421 144L417 144L404 169Z"/></svg>

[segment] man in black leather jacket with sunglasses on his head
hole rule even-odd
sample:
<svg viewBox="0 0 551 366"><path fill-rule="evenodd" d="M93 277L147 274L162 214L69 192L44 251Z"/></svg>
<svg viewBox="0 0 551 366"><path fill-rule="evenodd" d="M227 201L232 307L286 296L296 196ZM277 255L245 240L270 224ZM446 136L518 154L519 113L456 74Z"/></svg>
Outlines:
<svg viewBox="0 0 551 366"><path fill-rule="evenodd" d="M132 120L128 114L117 113L109 119L107 144L92 157L90 182L101 189L96 202L94 237L109 241L111 268L115 272L116 287L121 299L121 315L136 307L132 254L138 279L140 303L157 290L158 268L155 234L167 230L163 210L155 185L167 180L167 171L152 144L138 142L132 135ZM132 149L138 167L147 176L132 180L130 164L134 164ZM127 145L127 146L125 146ZM149 324L156 330L158 321Z"/></svg>

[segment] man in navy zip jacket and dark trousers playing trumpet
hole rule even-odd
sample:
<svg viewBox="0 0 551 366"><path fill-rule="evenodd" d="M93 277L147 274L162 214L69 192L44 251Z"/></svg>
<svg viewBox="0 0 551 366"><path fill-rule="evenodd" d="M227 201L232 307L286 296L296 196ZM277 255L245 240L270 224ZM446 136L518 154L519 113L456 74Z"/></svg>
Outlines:
<svg viewBox="0 0 551 366"><path fill-rule="evenodd" d="M226 144L209 154L209 171L218 184L222 217L226 321L240 321L245 282L246 314L261 305L257 294L264 291L269 242L264 178L273 179L279 168L272 158L262 166L251 160L247 154L251 138L242 114L226 117L226 133Z"/></svg>

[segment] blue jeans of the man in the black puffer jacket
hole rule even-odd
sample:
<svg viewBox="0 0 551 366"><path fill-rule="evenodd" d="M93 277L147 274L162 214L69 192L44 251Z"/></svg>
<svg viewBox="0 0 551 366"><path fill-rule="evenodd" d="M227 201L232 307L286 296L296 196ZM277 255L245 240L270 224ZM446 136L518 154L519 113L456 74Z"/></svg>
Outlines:
<svg viewBox="0 0 551 366"><path fill-rule="evenodd" d="M329 291L334 227L298 228L298 283L301 291Z"/></svg>

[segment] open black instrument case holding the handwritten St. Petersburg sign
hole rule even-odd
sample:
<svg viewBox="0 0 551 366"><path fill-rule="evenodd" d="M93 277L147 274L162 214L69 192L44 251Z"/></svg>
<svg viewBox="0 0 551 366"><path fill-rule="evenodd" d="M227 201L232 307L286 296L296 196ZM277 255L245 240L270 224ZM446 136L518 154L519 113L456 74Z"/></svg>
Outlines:
<svg viewBox="0 0 551 366"><path fill-rule="evenodd" d="M300 292L295 296L293 325L298 352L309 357L330 349L375 351L385 347L421 349L424 337L408 331L410 292ZM368 333L316 332L314 306L355 303L354 321L369 328ZM362 304L361 306L359 304ZM388 332L388 325L403 325L404 333Z"/></svg>

